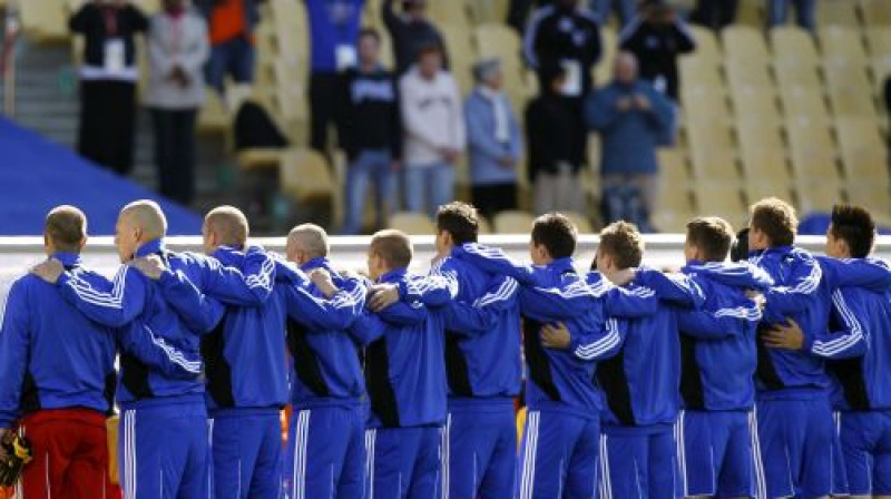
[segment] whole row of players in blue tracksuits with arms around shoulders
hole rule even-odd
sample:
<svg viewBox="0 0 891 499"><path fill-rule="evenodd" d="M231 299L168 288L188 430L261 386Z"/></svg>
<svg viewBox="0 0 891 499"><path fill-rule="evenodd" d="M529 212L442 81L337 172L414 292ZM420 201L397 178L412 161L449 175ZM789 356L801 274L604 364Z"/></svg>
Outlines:
<svg viewBox="0 0 891 499"><path fill-rule="evenodd" d="M751 227L754 265L724 263L730 226L701 218L688 264L664 275L639 266L636 229L614 224L599 272L579 273L565 217L536 221L523 265L477 244L476 212L453 203L438 213L429 273L409 273L410 239L384 231L369 282L332 268L316 226L288 236L300 268L248 246L229 207L205 219L210 256L169 252L163 214L137 202L121 212L125 266L108 281L80 265L82 214L57 208L51 258L9 294L0 427L18 420L37 450L26 498L91 497L101 459L59 462L86 461L82 441L101 458L117 348L128 498L277 498L282 476L292 498L585 498L598 483L604 498L821 497L845 477L853 493L889 493L879 370L891 272L864 258L869 214L834 213L828 253L846 261L792 247L794 212L777 199L753 207ZM833 364L833 384L826 356L858 360Z"/></svg>

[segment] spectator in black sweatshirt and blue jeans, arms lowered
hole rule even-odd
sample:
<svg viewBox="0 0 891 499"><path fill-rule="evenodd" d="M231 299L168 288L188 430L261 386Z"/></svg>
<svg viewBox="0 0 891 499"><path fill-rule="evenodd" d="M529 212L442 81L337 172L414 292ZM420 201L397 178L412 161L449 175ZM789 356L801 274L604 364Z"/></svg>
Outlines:
<svg viewBox="0 0 891 499"><path fill-rule="evenodd" d="M359 67L344 74L339 138L346 151L346 219L343 233L359 233L369 182L374 182L376 229L393 212L394 172L402 156L402 118L393 74L380 62L381 37L373 29L359 36Z"/></svg>

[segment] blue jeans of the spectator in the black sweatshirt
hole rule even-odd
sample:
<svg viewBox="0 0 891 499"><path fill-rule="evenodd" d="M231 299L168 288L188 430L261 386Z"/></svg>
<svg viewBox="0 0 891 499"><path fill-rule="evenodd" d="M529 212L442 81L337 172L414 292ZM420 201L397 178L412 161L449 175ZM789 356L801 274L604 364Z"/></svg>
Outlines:
<svg viewBox="0 0 891 499"><path fill-rule="evenodd" d="M350 163L346 169L346 215L343 221L343 234L358 234L362 228L362 213L365 208L365 194L369 183L374 182L375 227L385 224L385 217L393 212L395 205L395 178L390 165L392 158L386 150L364 150Z"/></svg>

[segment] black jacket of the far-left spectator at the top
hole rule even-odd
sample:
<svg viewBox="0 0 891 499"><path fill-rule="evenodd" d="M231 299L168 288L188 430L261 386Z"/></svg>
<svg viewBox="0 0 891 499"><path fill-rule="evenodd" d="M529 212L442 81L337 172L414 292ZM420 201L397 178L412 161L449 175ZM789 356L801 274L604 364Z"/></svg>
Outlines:
<svg viewBox="0 0 891 499"><path fill-rule="evenodd" d="M33 0L31 0L33 1ZM68 28L76 33L84 35L84 62L87 66L101 67L105 63L105 42L111 38L124 40L124 61L127 67L136 66L136 46L134 36L148 30L148 18L136 7L126 3L115 9L115 25L117 33L111 36L107 30L105 12L96 3L86 3L71 19Z"/></svg>

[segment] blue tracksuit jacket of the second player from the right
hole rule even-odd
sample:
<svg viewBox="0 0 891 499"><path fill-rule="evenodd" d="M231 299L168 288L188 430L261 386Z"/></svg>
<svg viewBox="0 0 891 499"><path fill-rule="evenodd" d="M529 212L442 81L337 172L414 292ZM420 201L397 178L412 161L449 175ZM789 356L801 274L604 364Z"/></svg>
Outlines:
<svg viewBox="0 0 891 499"><path fill-rule="evenodd" d="M762 327L787 317L801 326L805 342L826 331L832 293L841 286L887 286L887 272L875 261L817 260L804 250L779 246L756 252L750 262L763 268L775 286L765 293ZM805 351L767 349L758 342L756 388L760 397L801 397L829 385L824 361Z"/></svg>

